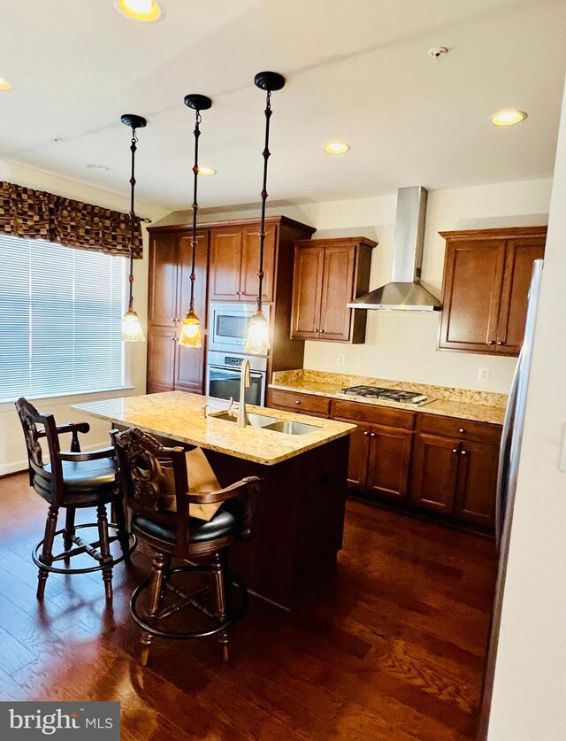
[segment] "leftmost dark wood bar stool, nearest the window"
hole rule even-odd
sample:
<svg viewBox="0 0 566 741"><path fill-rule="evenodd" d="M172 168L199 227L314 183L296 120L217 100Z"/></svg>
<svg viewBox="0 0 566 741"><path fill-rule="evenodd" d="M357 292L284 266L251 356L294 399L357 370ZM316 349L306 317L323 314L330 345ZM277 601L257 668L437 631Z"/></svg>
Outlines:
<svg viewBox="0 0 566 741"><path fill-rule="evenodd" d="M129 536L127 532L115 451L108 447L87 453L80 452L78 433L88 432L88 422L57 425L53 414L39 413L25 398L18 399L16 409L26 438L30 486L50 506L45 536L32 552L32 559L39 567L37 598L43 598L50 573L88 574L102 571L106 598L111 599L112 568L123 560L129 560L136 544L135 537ZM59 436L65 433L72 434L69 452L60 449ZM50 462L47 464L43 462L40 444L43 437L50 455ZM111 505L116 524L108 522L106 505ZM96 522L75 525L77 509L95 506ZM61 508L66 511L65 528L57 530ZM87 542L78 534L79 530L92 528L96 528L95 542ZM114 535L111 535L110 530ZM60 544L59 536L62 550L54 555L55 544ZM112 555L111 544L115 541L119 541L121 553ZM96 566L71 566L71 559L84 555L93 558Z"/></svg>

